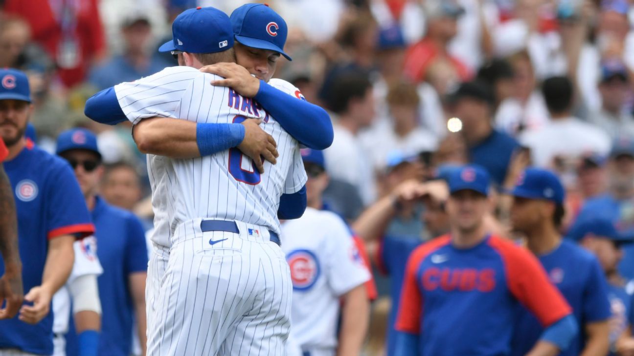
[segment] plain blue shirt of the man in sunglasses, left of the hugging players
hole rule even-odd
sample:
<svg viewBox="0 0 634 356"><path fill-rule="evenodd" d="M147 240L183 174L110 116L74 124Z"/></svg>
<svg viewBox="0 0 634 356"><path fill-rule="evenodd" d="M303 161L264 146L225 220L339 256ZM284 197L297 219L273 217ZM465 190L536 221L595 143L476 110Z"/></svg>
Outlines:
<svg viewBox="0 0 634 356"><path fill-rule="evenodd" d="M98 277L101 300L100 356L129 356L132 352L134 305L129 276L148 269L145 232L131 212L96 197L92 212L97 257L103 266ZM72 319L72 318L71 318ZM67 356L79 355L74 323L67 334Z"/></svg>

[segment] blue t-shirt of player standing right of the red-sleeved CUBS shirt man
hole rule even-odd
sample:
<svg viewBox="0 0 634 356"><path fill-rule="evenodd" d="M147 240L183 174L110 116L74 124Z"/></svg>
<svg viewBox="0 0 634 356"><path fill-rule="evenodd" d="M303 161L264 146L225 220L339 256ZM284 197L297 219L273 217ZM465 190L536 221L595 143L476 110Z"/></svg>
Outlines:
<svg viewBox="0 0 634 356"><path fill-rule="evenodd" d="M550 282L557 286L573 308L573 315L579 323L580 333L568 350L562 351L560 355L579 355L585 345L584 325L605 321L611 315L604 272L592 253L567 239L552 252L538 258ZM513 336L512 355L526 355L544 331L540 322L526 308L520 309L521 317Z"/></svg>

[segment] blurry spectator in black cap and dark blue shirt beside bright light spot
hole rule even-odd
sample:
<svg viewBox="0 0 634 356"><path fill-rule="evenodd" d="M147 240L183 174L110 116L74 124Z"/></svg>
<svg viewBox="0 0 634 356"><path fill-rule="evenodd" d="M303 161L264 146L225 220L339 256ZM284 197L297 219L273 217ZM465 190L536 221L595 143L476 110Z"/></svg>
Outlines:
<svg viewBox="0 0 634 356"><path fill-rule="evenodd" d="M450 96L453 116L462 120L460 136L467 144L469 162L488 170L496 184L504 181L519 144L493 127L493 95L486 84L465 82Z"/></svg>

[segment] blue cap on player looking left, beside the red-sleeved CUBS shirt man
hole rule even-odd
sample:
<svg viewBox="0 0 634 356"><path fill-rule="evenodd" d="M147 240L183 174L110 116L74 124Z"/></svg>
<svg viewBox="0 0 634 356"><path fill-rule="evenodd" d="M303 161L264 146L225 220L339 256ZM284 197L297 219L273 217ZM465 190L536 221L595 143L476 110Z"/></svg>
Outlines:
<svg viewBox="0 0 634 356"><path fill-rule="evenodd" d="M564 186L557 175L541 168L524 170L510 194L520 198L549 200L557 204L563 204L566 197Z"/></svg>

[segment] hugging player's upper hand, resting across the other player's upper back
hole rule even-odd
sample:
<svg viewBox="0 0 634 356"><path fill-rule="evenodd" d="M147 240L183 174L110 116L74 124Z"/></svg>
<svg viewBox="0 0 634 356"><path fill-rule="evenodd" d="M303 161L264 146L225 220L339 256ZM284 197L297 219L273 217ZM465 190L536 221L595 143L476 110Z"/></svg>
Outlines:
<svg viewBox="0 0 634 356"><path fill-rule="evenodd" d="M200 68L200 72L220 75L224 79L212 80L212 86L231 87L238 94L247 98L253 98L260 90L260 80L236 63L205 65Z"/></svg>

